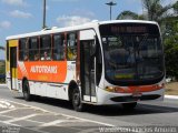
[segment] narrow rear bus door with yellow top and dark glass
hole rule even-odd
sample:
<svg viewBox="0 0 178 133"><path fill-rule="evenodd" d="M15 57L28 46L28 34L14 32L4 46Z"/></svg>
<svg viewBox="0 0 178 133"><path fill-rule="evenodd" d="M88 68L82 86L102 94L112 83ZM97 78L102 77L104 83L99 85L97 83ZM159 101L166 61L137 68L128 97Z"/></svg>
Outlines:
<svg viewBox="0 0 178 133"><path fill-rule="evenodd" d="M18 40L9 41L11 90L18 90L17 45Z"/></svg>

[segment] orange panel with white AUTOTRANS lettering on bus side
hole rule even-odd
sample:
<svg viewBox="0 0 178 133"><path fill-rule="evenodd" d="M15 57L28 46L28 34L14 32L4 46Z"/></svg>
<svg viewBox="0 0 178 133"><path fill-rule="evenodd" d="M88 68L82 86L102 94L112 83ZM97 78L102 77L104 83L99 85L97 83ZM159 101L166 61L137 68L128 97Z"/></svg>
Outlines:
<svg viewBox="0 0 178 133"><path fill-rule="evenodd" d="M18 78L33 81L65 82L67 61L37 61L18 64Z"/></svg>

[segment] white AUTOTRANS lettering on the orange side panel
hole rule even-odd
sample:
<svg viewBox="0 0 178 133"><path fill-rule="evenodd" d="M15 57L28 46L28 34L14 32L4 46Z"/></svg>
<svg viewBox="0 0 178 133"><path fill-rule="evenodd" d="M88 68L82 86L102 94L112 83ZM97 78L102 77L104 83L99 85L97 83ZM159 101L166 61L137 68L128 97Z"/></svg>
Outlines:
<svg viewBox="0 0 178 133"><path fill-rule="evenodd" d="M48 66L48 65L33 65L30 69L32 73L47 73L47 74L57 74L58 66Z"/></svg>

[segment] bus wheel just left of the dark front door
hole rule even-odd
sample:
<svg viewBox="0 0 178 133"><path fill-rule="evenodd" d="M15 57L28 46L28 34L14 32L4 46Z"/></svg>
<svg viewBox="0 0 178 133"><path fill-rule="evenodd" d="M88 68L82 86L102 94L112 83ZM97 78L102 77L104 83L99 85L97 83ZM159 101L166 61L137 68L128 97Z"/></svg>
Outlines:
<svg viewBox="0 0 178 133"><path fill-rule="evenodd" d="M83 111L83 103L81 103L80 91L78 88L75 88L72 91L72 106L75 111L81 112Z"/></svg>

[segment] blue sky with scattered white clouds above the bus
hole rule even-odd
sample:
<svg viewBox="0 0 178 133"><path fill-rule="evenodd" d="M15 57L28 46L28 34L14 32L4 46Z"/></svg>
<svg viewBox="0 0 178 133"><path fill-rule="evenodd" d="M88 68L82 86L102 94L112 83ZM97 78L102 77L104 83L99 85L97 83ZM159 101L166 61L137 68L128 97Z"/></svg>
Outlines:
<svg viewBox="0 0 178 133"><path fill-rule="evenodd" d="M111 0L47 0L47 27L68 27L92 20L109 20ZM112 19L125 11L142 12L141 0L112 0ZM165 0L165 4L177 0ZM0 45L8 35L39 31L42 29L43 0L0 0ZM0 51L0 59L4 52Z"/></svg>

